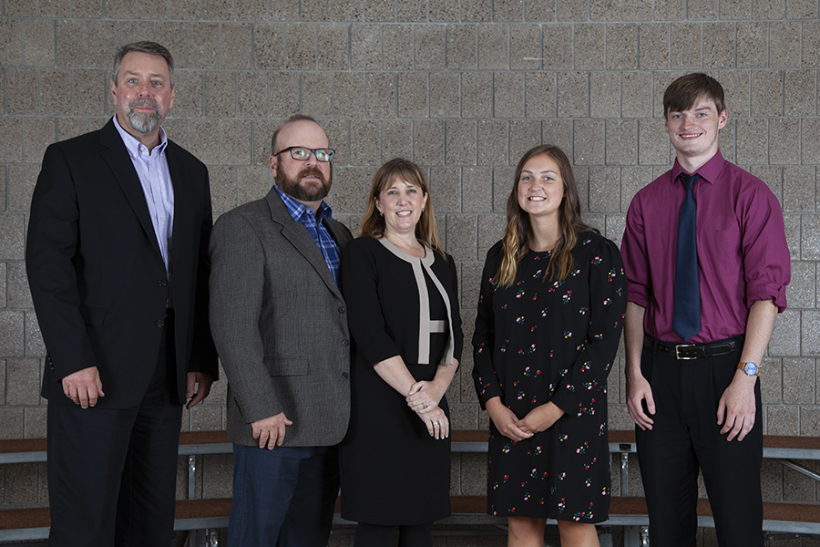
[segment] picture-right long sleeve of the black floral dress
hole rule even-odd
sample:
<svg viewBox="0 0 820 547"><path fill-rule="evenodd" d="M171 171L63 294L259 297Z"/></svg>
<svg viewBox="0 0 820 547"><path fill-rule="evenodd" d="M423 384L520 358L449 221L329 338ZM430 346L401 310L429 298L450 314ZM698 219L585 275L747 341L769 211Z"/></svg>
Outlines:
<svg viewBox="0 0 820 547"><path fill-rule="evenodd" d="M615 243L601 240L586 267L589 269L589 330L575 362L568 363L561 371L551 397L569 416L589 411L592 399L599 397L600 389L606 386L626 312L627 279Z"/></svg>

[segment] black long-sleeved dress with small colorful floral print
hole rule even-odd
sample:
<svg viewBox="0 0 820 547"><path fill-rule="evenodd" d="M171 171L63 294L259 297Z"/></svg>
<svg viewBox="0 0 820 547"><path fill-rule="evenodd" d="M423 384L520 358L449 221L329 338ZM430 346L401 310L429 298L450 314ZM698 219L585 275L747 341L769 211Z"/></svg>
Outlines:
<svg viewBox="0 0 820 547"><path fill-rule="evenodd" d="M474 368L482 407L492 397L518 418L552 401L565 414L515 442L490 420L487 512L498 516L606 521L610 508L607 375L626 310L626 276L615 243L580 232L566 279L544 279L549 253L527 253L515 283L493 277L501 243L481 278Z"/></svg>

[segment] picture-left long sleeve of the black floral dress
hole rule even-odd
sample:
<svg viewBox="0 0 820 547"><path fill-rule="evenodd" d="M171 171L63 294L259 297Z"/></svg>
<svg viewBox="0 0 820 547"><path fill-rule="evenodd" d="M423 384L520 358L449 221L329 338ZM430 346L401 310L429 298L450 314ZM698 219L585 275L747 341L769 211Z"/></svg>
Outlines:
<svg viewBox="0 0 820 547"><path fill-rule="evenodd" d="M504 398L504 388L493 365L495 351L495 314L493 312L493 277L498 268L498 253L501 243L497 243L487 253L484 271L481 274L481 292L478 296L476 330L473 333L473 381L481 408L493 397Z"/></svg>

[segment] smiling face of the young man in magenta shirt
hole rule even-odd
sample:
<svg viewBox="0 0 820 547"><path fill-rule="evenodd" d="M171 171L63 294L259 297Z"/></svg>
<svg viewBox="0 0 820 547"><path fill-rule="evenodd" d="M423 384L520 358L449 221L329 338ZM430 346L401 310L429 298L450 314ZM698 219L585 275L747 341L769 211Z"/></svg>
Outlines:
<svg viewBox="0 0 820 547"><path fill-rule="evenodd" d="M670 110L666 114L666 132L677 151L680 163L700 167L718 150L718 132L726 125L728 113L718 112L711 98L698 98L691 108Z"/></svg>

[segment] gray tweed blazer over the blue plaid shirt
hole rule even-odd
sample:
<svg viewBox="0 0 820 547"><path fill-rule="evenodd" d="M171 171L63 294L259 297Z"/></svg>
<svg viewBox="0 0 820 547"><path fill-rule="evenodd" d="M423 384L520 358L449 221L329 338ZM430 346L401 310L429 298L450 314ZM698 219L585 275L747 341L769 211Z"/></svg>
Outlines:
<svg viewBox="0 0 820 547"><path fill-rule="evenodd" d="M326 222L326 221L325 221ZM327 222L340 250L351 240ZM282 446L339 443L350 417L347 310L322 251L274 189L221 215L210 236L210 330L228 377L228 439L284 412Z"/></svg>

